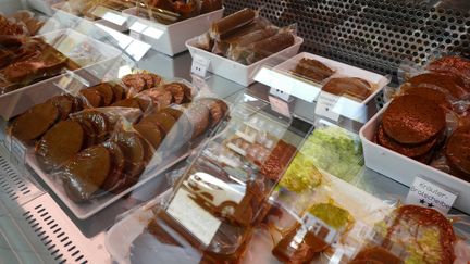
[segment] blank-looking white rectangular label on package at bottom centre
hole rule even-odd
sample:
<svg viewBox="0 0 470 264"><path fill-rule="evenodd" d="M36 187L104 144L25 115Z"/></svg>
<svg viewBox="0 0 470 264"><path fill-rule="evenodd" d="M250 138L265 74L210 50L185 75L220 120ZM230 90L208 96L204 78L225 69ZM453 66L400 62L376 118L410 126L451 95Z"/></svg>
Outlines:
<svg viewBox="0 0 470 264"><path fill-rule="evenodd" d="M190 192L180 188L166 212L205 246L209 246L221 221L196 203L190 196Z"/></svg>

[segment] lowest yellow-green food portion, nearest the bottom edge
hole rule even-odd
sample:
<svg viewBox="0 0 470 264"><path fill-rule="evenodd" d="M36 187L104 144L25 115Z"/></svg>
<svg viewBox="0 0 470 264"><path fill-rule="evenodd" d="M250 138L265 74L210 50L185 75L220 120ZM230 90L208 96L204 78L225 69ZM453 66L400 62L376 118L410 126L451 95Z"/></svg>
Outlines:
<svg viewBox="0 0 470 264"><path fill-rule="evenodd" d="M314 204L308 210L308 212L336 230L341 228L347 229L354 222L352 216L348 211L331 203Z"/></svg>

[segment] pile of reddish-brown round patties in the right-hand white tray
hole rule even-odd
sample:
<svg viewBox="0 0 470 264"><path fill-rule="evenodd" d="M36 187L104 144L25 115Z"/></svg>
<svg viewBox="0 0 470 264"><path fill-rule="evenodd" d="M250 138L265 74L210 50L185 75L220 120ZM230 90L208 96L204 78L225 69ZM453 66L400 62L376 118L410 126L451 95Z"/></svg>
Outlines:
<svg viewBox="0 0 470 264"><path fill-rule="evenodd" d="M470 180L470 61L444 56L411 76L384 111L375 141Z"/></svg>

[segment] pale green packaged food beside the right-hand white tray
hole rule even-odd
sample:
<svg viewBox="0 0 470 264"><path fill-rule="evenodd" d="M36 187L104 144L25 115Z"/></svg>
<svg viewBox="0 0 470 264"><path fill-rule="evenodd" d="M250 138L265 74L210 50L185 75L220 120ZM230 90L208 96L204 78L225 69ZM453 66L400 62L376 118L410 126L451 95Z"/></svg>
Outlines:
<svg viewBox="0 0 470 264"><path fill-rule="evenodd" d="M341 127L317 128L300 152L311 158L317 167L346 181L363 166L360 141Z"/></svg>

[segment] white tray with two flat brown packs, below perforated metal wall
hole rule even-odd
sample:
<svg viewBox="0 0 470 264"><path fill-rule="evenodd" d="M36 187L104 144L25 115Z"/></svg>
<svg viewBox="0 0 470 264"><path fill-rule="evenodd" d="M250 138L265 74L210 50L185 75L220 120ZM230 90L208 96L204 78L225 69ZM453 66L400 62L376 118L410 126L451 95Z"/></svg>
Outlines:
<svg viewBox="0 0 470 264"><path fill-rule="evenodd" d="M326 65L327 67L330 67L331 70L334 71L334 73L324 78L323 81L313 81L309 78L307 78L306 76L301 76L299 74L294 73L294 70L296 68L296 66L299 64L299 62L302 59L309 59L309 60L316 60L318 62L323 63L324 65ZM371 95L369 97L367 97L364 100L362 100L361 102L358 102L357 100L351 100L349 98L345 98L345 100L347 101L347 103L349 104L367 104L368 102L370 102L389 81L391 79L387 78L386 76L370 72L370 71L366 71L359 67L355 67L342 62L337 62L334 60L330 60L323 56L319 56L316 54L311 54L308 52L302 52L297 54L296 56L279 64L277 66L274 67L274 70L276 72L280 72L282 74L285 74L289 77L292 77L292 81L293 87L294 87L294 83L296 81L302 81L305 83L308 88L310 88L310 92L313 95L309 95L309 98L316 98L314 100L317 101L317 97L320 93L324 81L327 81L327 79L330 78L335 78L335 77L358 77L358 78L362 78L364 80L367 80L370 85L371 85ZM274 87L277 88L277 87ZM282 87L280 87L282 88ZM307 87L304 87L307 88ZM295 88L292 88L292 93L293 96L295 96ZM301 97L300 97L301 98Z"/></svg>

